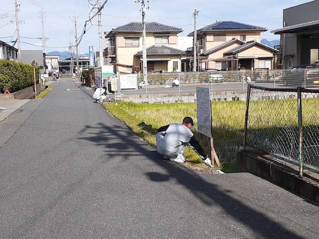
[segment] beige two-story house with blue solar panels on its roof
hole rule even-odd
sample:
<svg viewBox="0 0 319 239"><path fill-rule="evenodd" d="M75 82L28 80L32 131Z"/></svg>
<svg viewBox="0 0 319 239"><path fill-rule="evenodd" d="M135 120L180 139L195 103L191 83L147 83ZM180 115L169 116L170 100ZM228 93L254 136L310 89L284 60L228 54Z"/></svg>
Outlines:
<svg viewBox="0 0 319 239"><path fill-rule="evenodd" d="M260 26L235 21L216 21L197 30L199 70L239 70L274 67L276 49L260 43ZM194 36L194 32L188 34ZM192 49L189 49L189 53ZM182 70L192 70L192 53L182 60Z"/></svg>

